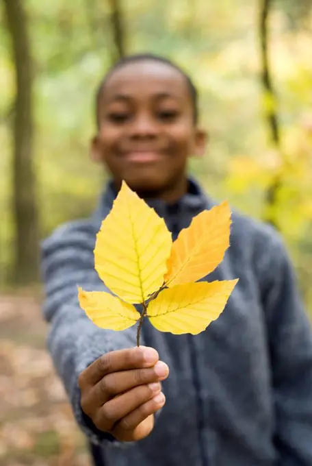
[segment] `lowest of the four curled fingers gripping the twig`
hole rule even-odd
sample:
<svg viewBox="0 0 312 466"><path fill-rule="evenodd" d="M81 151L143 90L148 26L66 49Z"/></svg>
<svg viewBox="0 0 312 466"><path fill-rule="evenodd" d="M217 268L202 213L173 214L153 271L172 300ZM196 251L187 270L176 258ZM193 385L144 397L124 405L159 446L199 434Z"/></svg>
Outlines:
<svg viewBox="0 0 312 466"><path fill-rule="evenodd" d="M120 434L120 430L134 430L138 427L146 417L156 413L166 403L166 397L164 393L159 392L155 397L148 402L139 406L132 411L129 415L123 417L115 426L113 434Z"/></svg>

